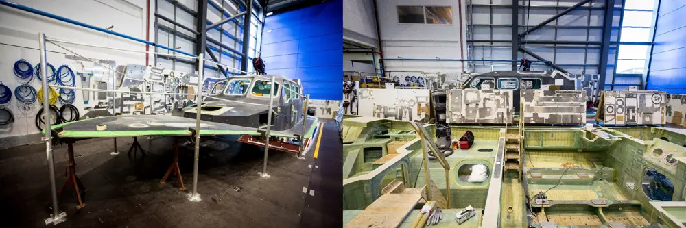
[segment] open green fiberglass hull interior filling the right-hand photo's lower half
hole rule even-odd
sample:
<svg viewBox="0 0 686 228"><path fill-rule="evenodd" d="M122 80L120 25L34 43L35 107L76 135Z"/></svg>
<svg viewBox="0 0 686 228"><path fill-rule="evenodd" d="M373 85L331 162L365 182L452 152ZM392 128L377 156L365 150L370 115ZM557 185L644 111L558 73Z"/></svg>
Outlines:
<svg viewBox="0 0 686 228"><path fill-rule="evenodd" d="M425 186L421 140L410 123L347 116L343 126L344 223L382 194L393 194L386 190L397 182L405 188ZM434 134L434 125L425 127ZM444 168L436 160L428 161L429 177L444 196L450 181L451 208L446 210L453 214L439 227L479 227L477 216L458 226L454 212L471 205L481 213L486 207L498 140L516 133L517 127L451 126L453 138L468 130L475 142L470 149L456 149L446 157L447 180ZM626 227L680 227L686 221L686 136L679 131L525 127L523 136L523 178L518 181L517 175L503 174L499 227L544 227L550 222L558 227L608 227L614 222ZM488 167L486 181L468 181L476 164ZM672 183L672 201L651 199L648 171ZM526 197L539 192L545 192L547 205L526 204ZM419 207L410 209L399 226L409 227Z"/></svg>

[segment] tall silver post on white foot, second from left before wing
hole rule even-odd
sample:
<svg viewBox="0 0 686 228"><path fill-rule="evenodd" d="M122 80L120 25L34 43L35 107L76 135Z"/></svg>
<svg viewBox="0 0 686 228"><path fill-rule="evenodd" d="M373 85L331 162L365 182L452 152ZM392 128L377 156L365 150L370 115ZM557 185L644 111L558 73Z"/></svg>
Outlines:
<svg viewBox="0 0 686 228"><path fill-rule="evenodd" d="M198 89L196 90L196 152L193 155L193 191L188 194L188 200L200 202L198 194L198 160L200 160L200 110L202 110L202 79L204 69L204 55L198 55Z"/></svg>

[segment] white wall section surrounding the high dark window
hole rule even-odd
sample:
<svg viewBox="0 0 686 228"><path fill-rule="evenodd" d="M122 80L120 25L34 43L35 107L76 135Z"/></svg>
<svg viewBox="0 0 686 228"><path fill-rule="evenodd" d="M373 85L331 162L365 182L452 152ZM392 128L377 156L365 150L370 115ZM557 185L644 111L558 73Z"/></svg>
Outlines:
<svg viewBox="0 0 686 228"><path fill-rule="evenodd" d="M458 14L458 3L462 3L462 20ZM466 27L464 1L454 0L397 0L377 1L379 27L384 58L405 59L460 59L460 50L466 57ZM398 5L449 6L452 10L451 25L399 23ZM462 22L462 47L460 47L460 22ZM462 72L460 62L445 61L398 61L384 60L386 76L396 76L392 71L441 71ZM466 64L465 64L466 66Z"/></svg>

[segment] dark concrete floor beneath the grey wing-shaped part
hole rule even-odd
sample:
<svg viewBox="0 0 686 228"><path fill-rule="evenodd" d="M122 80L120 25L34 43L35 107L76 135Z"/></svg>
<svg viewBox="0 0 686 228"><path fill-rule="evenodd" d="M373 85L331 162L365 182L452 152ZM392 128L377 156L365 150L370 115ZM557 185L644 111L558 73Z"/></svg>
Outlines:
<svg viewBox="0 0 686 228"><path fill-rule="evenodd" d="M67 221L55 227L340 227L342 144L333 121L324 127L318 160L315 145L302 160L270 151L268 178L257 173L263 149L236 138L201 148L199 203L186 195L193 187L193 144L179 150L187 188L180 191L174 176L159 183L173 160L173 138L139 138L149 151L145 157L127 156L132 138L117 140L119 155L110 155L111 138L78 141L76 173L88 188L86 207L75 208L69 186L60 202ZM59 192L66 180L67 147L56 147L54 156ZM0 186L3 227L50 227L43 222L51 213L45 144L1 150Z"/></svg>

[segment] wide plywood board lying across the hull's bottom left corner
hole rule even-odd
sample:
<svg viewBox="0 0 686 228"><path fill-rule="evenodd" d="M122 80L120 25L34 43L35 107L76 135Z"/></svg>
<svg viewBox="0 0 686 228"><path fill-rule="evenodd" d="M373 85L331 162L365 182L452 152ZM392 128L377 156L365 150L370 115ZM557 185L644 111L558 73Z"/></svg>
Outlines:
<svg viewBox="0 0 686 228"><path fill-rule="evenodd" d="M407 191L405 191L407 192ZM416 206L419 193L384 194L346 223L347 228L398 227Z"/></svg>

